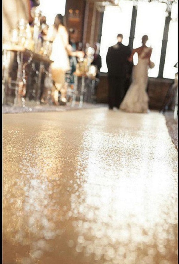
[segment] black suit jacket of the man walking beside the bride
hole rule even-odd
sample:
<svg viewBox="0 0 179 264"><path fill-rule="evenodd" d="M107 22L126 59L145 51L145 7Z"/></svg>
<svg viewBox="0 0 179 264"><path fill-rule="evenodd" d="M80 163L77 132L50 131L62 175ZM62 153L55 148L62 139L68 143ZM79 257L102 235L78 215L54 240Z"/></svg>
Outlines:
<svg viewBox="0 0 179 264"><path fill-rule="evenodd" d="M126 78L127 74L131 74L133 63L129 63L127 60L130 55L129 46L125 46L121 42L109 47L106 56L108 76Z"/></svg>

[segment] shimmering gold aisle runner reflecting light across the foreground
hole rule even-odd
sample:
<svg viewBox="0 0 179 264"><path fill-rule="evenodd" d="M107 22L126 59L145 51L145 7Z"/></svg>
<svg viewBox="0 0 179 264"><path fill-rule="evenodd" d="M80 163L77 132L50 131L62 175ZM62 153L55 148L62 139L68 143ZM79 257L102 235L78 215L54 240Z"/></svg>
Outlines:
<svg viewBox="0 0 179 264"><path fill-rule="evenodd" d="M177 178L158 112L4 114L3 264L176 264Z"/></svg>

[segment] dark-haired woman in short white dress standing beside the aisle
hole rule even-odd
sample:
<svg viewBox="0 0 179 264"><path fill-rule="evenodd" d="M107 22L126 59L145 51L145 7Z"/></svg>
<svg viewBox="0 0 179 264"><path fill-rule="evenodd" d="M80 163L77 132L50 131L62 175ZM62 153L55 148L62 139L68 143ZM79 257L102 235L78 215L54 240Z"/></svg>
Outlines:
<svg viewBox="0 0 179 264"><path fill-rule="evenodd" d="M61 14L55 16L55 21L47 31L46 40L53 41L50 59L53 60L52 79L58 91L61 92L61 101L66 103L67 85L65 84L65 73L70 70L70 56L83 57L82 51L72 51L64 18Z"/></svg>

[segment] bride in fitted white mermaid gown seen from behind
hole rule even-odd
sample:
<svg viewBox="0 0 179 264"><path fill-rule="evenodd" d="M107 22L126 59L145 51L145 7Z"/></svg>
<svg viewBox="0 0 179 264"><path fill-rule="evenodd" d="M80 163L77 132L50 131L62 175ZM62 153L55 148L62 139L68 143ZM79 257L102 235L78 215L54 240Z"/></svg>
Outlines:
<svg viewBox="0 0 179 264"><path fill-rule="evenodd" d="M135 52L138 53L138 64L132 69L132 83L120 105L120 109L130 113L147 113L148 112L148 95L146 88L148 84L148 69L154 67L150 61L152 48L145 44L148 36L142 37L142 46L132 51L129 61L133 60Z"/></svg>

